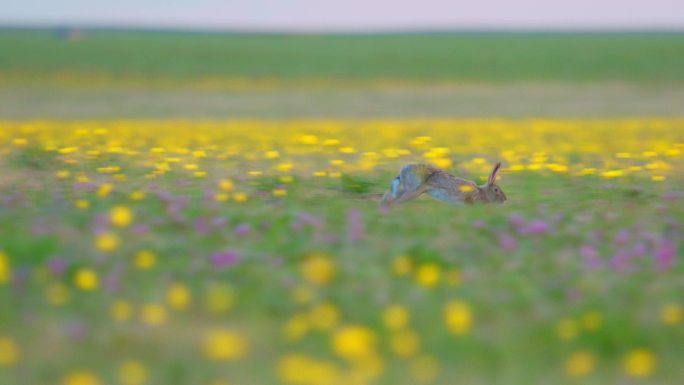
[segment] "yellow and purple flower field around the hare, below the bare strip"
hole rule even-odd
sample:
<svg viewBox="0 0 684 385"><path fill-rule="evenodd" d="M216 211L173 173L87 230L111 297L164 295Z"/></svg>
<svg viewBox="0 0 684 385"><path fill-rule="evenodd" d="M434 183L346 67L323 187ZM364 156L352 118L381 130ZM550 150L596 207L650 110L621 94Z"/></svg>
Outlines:
<svg viewBox="0 0 684 385"><path fill-rule="evenodd" d="M0 384L674 384L683 167L672 117L2 121Z"/></svg>

